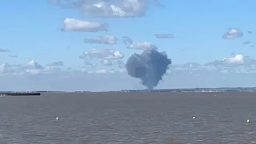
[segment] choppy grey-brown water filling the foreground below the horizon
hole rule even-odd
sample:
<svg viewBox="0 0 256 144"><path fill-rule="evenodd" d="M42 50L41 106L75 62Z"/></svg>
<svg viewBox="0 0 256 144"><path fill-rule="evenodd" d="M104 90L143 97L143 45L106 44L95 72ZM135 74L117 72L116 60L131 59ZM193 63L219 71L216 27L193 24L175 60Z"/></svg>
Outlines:
<svg viewBox="0 0 256 144"><path fill-rule="evenodd" d="M256 143L255 111L256 93L59 93L47 97L2 97L0 141ZM246 123L247 119L252 123Z"/></svg>

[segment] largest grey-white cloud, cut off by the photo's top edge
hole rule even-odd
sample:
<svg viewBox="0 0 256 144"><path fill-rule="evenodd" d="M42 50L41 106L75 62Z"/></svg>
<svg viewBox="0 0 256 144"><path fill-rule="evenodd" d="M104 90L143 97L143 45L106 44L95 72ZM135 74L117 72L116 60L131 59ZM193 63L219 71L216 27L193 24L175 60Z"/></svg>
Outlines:
<svg viewBox="0 0 256 144"><path fill-rule="evenodd" d="M142 17L147 13L150 2L153 2L155 6L161 5L157 0L50 0L50 2L63 8L79 10L83 14L91 17L101 18Z"/></svg>

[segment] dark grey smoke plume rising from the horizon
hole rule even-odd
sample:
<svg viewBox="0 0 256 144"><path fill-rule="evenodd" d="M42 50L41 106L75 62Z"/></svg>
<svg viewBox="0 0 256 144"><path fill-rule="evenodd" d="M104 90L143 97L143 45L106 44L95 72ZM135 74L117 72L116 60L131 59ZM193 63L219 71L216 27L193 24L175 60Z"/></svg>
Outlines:
<svg viewBox="0 0 256 144"><path fill-rule="evenodd" d="M168 66L172 63L165 52L145 50L142 54L134 53L126 62L128 74L140 78L141 83L152 90L162 80Z"/></svg>

